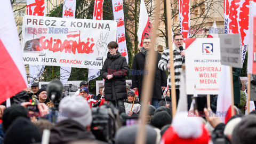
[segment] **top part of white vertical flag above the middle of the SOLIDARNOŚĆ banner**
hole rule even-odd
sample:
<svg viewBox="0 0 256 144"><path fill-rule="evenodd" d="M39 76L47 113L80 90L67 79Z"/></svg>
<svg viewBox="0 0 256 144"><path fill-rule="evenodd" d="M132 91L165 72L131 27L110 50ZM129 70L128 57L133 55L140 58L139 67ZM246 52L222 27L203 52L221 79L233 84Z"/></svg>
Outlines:
<svg viewBox="0 0 256 144"><path fill-rule="evenodd" d="M76 0L63 1L62 18L75 18L76 15Z"/></svg>

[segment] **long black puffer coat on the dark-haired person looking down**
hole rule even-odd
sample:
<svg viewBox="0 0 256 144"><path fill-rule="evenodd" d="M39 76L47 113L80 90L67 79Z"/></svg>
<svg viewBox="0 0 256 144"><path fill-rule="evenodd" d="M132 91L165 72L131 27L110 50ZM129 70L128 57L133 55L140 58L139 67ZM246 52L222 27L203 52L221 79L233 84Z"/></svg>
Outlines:
<svg viewBox="0 0 256 144"><path fill-rule="evenodd" d="M116 55L108 52L107 56L101 69L101 76L105 79L105 100L125 99L127 97L125 76L128 71L126 58L119 52L116 52ZM107 75L114 77L108 80Z"/></svg>

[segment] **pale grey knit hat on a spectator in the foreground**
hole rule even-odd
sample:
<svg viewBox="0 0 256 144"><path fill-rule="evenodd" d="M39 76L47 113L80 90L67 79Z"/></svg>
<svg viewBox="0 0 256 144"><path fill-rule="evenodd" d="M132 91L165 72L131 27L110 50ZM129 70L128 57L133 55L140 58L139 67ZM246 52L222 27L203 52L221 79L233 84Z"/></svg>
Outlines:
<svg viewBox="0 0 256 144"><path fill-rule="evenodd" d="M60 101L60 113L68 113L58 117L58 122L65 119L73 119L74 121L87 127L92 123L92 111L88 102L81 96L65 97Z"/></svg>

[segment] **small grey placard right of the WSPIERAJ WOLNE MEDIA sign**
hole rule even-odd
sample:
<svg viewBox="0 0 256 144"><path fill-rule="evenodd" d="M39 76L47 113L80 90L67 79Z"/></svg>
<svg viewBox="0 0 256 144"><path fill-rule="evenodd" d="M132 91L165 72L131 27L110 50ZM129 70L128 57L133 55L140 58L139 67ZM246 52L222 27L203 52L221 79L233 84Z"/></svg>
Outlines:
<svg viewBox="0 0 256 144"><path fill-rule="evenodd" d="M242 68L239 34L220 35L221 64Z"/></svg>

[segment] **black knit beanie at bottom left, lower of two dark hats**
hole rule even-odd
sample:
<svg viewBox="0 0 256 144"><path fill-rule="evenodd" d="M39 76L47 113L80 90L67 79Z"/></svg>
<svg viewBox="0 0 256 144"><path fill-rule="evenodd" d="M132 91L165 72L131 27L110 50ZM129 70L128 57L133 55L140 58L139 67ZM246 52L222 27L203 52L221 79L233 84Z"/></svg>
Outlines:
<svg viewBox="0 0 256 144"><path fill-rule="evenodd" d="M36 143L41 139L39 130L28 118L18 117L5 132L4 143Z"/></svg>

